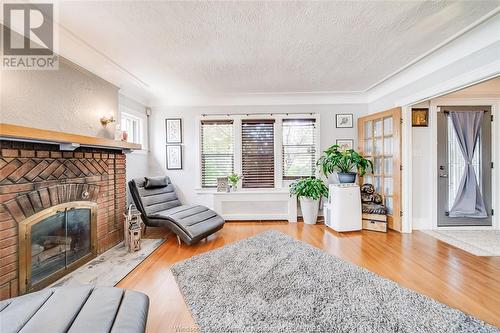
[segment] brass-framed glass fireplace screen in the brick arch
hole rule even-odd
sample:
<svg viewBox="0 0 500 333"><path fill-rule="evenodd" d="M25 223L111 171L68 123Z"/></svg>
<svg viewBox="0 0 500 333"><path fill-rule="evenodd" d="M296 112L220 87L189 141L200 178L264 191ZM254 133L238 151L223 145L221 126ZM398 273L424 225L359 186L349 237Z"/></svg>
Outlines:
<svg viewBox="0 0 500 333"><path fill-rule="evenodd" d="M46 286L94 256L92 206L52 207L25 228L26 291ZM57 208L57 209L55 209ZM23 269L20 270L23 273Z"/></svg>

